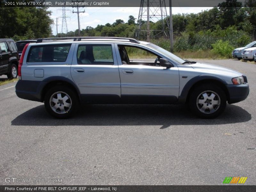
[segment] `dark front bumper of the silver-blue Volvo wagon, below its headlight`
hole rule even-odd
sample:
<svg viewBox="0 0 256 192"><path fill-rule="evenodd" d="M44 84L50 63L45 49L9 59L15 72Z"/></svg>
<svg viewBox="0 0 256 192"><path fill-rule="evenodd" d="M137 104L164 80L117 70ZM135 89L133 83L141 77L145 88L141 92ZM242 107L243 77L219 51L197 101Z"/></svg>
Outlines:
<svg viewBox="0 0 256 192"><path fill-rule="evenodd" d="M247 98L249 94L249 85L226 85L229 93L228 103L237 103Z"/></svg>

